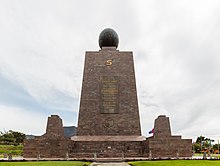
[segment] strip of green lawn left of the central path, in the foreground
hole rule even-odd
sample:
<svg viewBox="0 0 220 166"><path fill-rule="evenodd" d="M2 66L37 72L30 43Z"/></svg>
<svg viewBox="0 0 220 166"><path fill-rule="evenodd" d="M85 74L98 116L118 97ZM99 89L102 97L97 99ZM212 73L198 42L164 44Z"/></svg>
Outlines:
<svg viewBox="0 0 220 166"><path fill-rule="evenodd" d="M36 161L36 162L0 162L0 166L87 166L82 161Z"/></svg>

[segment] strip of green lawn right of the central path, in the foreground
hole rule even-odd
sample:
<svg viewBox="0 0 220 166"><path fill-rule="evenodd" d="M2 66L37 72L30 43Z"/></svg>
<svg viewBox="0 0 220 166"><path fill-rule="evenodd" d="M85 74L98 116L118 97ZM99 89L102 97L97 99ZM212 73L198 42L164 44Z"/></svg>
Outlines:
<svg viewBox="0 0 220 166"><path fill-rule="evenodd" d="M220 160L161 160L129 162L132 166L220 166Z"/></svg>

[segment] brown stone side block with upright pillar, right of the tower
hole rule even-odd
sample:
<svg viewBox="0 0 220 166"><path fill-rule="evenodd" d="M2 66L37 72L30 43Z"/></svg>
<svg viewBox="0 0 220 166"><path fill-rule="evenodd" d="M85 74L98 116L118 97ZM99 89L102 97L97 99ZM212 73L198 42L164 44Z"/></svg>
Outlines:
<svg viewBox="0 0 220 166"><path fill-rule="evenodd" d="M192 156L192 140L172 136L169 118L160 115L154 123L154 135L146 140L146 153L152 158L189 158Z"/></svg>

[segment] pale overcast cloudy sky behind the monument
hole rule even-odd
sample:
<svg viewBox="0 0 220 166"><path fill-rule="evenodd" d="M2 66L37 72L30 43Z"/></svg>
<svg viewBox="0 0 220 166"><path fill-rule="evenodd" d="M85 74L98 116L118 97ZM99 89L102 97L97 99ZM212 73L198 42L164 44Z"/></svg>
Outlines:
<svg viewBox="0 0 220 166"><path fill-rule="evenodd" d="M133 51L143 135L165 114L173 135L220 139L219 0L1 0L0 131L77 125L85 51L107 27Z"/></svg>

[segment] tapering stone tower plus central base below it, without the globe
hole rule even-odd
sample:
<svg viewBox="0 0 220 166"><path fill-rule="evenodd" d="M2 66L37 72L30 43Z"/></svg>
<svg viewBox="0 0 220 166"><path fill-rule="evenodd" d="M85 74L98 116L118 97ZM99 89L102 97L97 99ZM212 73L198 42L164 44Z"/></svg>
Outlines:
<svg viewBox="0 0 220 166"><path fill-rule="evenodd" d="M86 52L71 157L138 157L142 149L132 52Z"/></svg>

